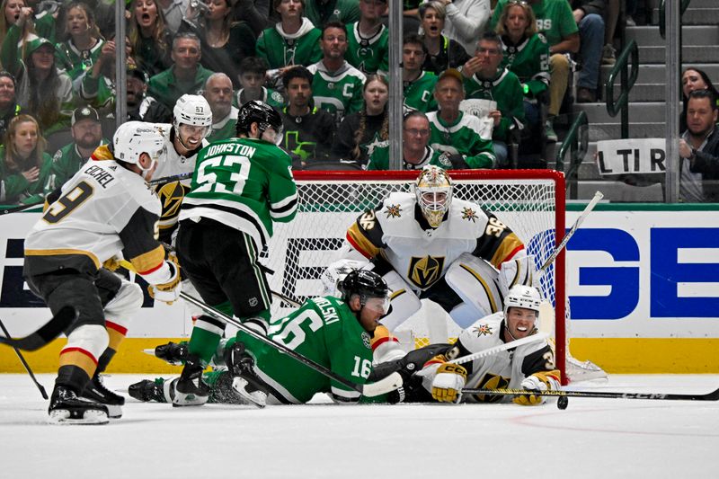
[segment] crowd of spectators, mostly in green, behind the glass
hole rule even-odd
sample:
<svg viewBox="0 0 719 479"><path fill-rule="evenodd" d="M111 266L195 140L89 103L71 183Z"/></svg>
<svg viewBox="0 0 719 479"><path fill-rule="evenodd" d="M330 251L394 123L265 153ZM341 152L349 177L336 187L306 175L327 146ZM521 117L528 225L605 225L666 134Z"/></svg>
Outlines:
<svg viewBox="0 0 719 479"><path fill-rule="evenodd" d="M617 5L404 0L404 167L526 166L510 163L510 144L540 143L538 150L556 140L553 122L575 62L576 102L597 101L599 66L614 58ZM128 119L150 122L170 122L182 94L203 94L213 113L210 141L232 136L237 107L259 99L281 112L282 146L297 168L386 167L387 0L132 0L124 85L115 80L113 9L102 0L2 1L4 182L19 172L45 182L37 191L57 183L58 174L42 178L51 170L46 143L56 162L73 152L86 157L91 143L111 137L120 88ZM88 109L101 129L92 141L80 131ZM22 159L29 144L16 137L32 127L36 145ZM22 170L27 158L37 172ZM4 200L19 198L6 193L5 186Z"/></svg>

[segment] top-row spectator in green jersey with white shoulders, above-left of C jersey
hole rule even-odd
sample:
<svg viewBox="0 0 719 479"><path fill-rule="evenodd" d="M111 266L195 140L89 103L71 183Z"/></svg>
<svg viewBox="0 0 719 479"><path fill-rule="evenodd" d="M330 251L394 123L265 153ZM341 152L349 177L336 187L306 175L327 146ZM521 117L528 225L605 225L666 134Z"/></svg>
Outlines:
<svg viewBox="0 0 719 479"><path fill-rule="evenodd" d="M263 58L271 69L282 69L294 65L305 67L322 58L317 41L322 32L307 18L305 0L274 0L274 9L280 13L280 22L262 31L257 40L257 56ZM281 76L271 72L271 77Z"/></svg>

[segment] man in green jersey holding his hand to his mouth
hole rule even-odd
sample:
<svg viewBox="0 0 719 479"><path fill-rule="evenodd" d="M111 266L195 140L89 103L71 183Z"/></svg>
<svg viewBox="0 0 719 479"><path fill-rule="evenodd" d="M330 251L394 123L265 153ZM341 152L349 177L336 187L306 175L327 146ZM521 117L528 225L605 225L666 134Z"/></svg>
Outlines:
<svg viewBox="0 0 719 479"><path fill-rule="evenodd" d="M512 130L520 132L524 129L525 120L522 85L517 75L500 67L501 62L502 40L496 33L484 33L477 44L475 57L466 62L462 75L466 76L467 98L497 103L497 109L490 111L489 117L494 120L494 155L497 163L505 166Z"/></svg>

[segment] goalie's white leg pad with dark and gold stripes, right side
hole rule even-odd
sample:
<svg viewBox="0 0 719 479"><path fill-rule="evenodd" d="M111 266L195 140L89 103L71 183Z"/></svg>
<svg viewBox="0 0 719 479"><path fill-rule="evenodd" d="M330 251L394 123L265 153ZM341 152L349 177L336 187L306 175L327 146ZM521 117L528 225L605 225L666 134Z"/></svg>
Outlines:
<svg viewBox="0 0 719 479"><path fill-rule="evenodd" d="M502 311L498 273L488 262L472 254L462 253L449 266L444 279L463 302L475 308L478 314L475 321L482 316ZM457 315L460 312L462 311L457 311Z"/></svg>

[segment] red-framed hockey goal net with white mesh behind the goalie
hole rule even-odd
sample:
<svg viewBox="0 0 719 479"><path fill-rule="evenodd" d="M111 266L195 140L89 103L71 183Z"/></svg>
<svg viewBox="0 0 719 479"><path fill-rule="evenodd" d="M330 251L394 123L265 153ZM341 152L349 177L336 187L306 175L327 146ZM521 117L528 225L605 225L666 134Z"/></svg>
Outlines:
<svg viewBox="0 0 719 479"><path fill-rule="evenodd" d="M347 228L359 215L375 208L393 191L413 191L416 172L295 172L299 206L288 224L275 224L264 262L274 271L271 289L302 303L319 296L322 271L339 259ZM564 235L564 174L551 170L476 170L450 173L455 197L475 202L492 211L514 231L535 255L537 270L555 251ZM560 232L557 235L557 232ZM559 241L558 241L559 240ZM569 355L567 329L569 305L564 291L564 252L540 279L542 296L549 307L549 332L554 334L557 368L563 381L602 377L591 363L580 363ZM423 303L425 303L423 301ZM433 306L433 307L432 307ZM546 305L547 306L547 305ZM287 315L293 306L273 299L272 315ZM443 311L424 305L422 311L403 324L398 335L404 342L421 347L429 342L447 342L457 337L457 324L445 318L446 327L432 327ZM427 321L427 318L432 321ZM547 314L545 314L547 316ZM556 319L555 319L556 318ZM543 321L546 323L547 318ZM402 331L404 330L404 334ZM442 332L446 337L441 337ZM433 333L433 334L432 334ZM439 337L437 337L439 335ZM408 340L409 339L409 340Z"/></svg>

